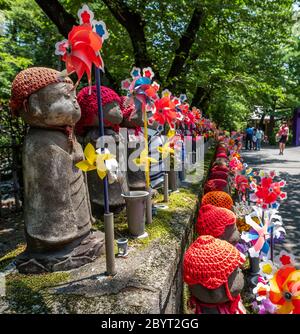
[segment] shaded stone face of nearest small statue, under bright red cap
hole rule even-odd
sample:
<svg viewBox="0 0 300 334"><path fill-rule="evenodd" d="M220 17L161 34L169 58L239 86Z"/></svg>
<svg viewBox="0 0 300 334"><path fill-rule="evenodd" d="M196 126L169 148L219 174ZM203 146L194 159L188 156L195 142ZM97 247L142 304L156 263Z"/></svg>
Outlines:
<svg viewBox="0 0 300 334"><path fill-rule="evenodd" d="M240 268L237 268L228 277L228 287L232 297L237 297L244 287L244 275ZM190 290L200 302L207 304L225 303L229 301L224 284L217 289L207 289L202 285L191 285Z"/></svg>

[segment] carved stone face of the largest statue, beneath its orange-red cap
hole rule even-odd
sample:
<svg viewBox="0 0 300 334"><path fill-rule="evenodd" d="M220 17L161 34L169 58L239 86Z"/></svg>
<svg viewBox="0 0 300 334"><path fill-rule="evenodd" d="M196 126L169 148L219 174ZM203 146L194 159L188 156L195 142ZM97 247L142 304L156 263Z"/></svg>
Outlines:
<svg viewBox="0 0 300 334"><path fill-rule="evenodd" d="M20 111L21 117L32 126L75 125L80 119L80 106L72 85L54 83L30 95L28 109Z"/></svg>

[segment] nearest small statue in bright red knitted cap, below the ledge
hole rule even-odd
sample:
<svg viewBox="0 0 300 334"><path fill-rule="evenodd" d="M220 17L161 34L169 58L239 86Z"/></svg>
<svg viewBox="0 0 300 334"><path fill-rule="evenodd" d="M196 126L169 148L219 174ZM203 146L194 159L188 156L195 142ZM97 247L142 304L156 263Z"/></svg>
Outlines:
<svg viewBox="0 0 300 334"><path fill-rule="evenodd" d="M245 257L225 240L200 236L184 256L183 276L196 314L244 314L240 292Z"/></svg>

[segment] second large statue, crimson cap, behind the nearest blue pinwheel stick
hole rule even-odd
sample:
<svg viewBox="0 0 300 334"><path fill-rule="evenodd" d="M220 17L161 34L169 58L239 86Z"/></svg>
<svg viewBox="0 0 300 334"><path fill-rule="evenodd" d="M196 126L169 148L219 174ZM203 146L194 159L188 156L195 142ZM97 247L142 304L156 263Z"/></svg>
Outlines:
<svg viewBox="0 0 300 334"><path fill-rule="evenodd" d="M117 146L116 151L111 153L116 155L118 162L121 159L125 162L124 152L119 152L118 149L120 140L123 140L119 135L120 123L123 121L121 98L112 89L102 86L101 99L105 126L104 133L106 136L111 136ZM78 103L82 116L75 127L76 135L80 136L83 146L91 143L96 148L99 138L96 86L92 86L91 91L90 87L83 88L78 93ZM109 184L109 205L112 212L118 212L125 206L125 200L121 194L125 191L124 189L128 188L126 172L119 171L118 177L119 181ZM104 212L103 181L99 178L96 171L89 172L87 180L93 214L95 217L101 217Z"/></svg>

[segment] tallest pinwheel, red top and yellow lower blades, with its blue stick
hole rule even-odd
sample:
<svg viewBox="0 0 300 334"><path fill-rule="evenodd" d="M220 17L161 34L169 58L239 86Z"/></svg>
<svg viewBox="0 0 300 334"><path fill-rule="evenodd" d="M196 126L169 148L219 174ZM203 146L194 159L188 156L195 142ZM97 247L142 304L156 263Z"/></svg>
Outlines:
<svg viewBox="0 0 300 334"><path fill-rule="evenodd" d="M67 74L76 72L78 80L74 88L79 84L84 73L87 74L89 86L91 87L92 66L95 67L95 80L97 91L99 136L104 136L104 117L101 102L101 77L100 69L104 69L103 60L100 55L103 41L108 38L106 26L103 21L94 20L94 14L87 5L78 11L80 25L74 26L68 35L68 40L56 43L55 53L62 57L66 63ZM113 215L109 211L109 194L107 170L116 164L112 162L112 156L107 149L102 148L96 155L92 145L87 146L86 160L77 164L78 168L89 171L97 169L97 173L103 179L104 195L104 226L105 228L105 248L106 248L106 273L115 275L115 255L114 255L114 227Z"/></svg>

